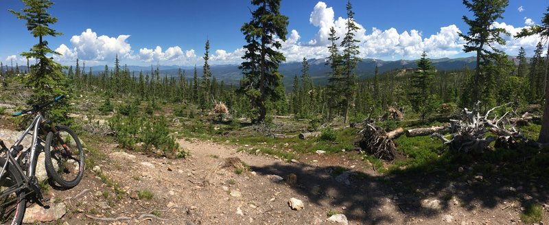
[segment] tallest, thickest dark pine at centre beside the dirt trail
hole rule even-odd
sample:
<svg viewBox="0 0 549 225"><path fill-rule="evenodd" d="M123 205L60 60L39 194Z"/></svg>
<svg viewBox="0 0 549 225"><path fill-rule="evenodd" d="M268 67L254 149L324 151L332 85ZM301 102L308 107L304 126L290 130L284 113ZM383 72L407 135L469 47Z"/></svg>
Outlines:
<svg viewBox="0 0 549 225"><path fill-rule="evenodd" d="M252 4L257 9L240 29L247 44L239 67L244 73L239 92L250 100L253 123L260 123L266 119L269 103L283 97L276 90L282 77L279 64L285 57L277 50L281 48L278 39L286 40L288 17L280 14L280 0L252 0Z"/></svg>

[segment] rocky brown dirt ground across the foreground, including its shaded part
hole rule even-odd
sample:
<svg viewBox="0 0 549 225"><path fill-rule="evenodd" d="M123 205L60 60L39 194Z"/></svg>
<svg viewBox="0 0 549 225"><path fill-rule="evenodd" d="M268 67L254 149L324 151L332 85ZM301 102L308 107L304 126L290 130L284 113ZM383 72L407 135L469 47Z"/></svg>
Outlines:
<svg viewBox="0 0 549 225"><path fill-rule="evenodd" d="M8 143L13 134L0 129ZM355 152L285 162L237 152L234 143L178 142L191 156L155 158L97 143L104 157L77 187L49 189L45 214L62 216L60 224L522 224L524 202L535 201L548 222L548 193L535 180L468 167L452 179L387 176ZM27 211L26 222L31 215L40 212Z"/></svg>

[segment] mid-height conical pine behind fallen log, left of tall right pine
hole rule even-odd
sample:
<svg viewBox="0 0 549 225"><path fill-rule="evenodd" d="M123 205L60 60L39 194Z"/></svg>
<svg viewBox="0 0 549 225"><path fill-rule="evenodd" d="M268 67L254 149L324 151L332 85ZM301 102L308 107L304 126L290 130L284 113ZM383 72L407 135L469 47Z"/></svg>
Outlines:
<svg viewBox="0 0 549 225"><path fill-rule="evenodd" d="M431 105L429 88L433 80L433 69L427 54L423 51L421 59L417 61L417 71L412 77L412 93L410 93L412 108L419 112L422 120L425 119L428 112L432 111L432 108L429 107Z"/></svg>

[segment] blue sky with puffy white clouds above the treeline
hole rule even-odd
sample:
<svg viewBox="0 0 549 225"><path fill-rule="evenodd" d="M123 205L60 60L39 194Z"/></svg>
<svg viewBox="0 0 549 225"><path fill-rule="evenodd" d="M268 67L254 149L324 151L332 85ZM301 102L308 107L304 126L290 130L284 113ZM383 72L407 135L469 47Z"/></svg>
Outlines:
<svg viewBox="0 0 549 225"><path fill-rule="evenodd" d="M73 64L113 64L119 55L124 64L201 64L206 38L211 43L211 64L237 64L242 56L242 24L250 19L249 1L83 1L58 0L49 12L59 19L53 27L64 33L47 37L51 49L62 54L56 60ZM463 40L456 32L467 32L461 17L469 15L458 0L351 1L355 21L362 27L357 38L363 58L399 60L469 56L461 52ZM326 32L331 26L339 34L347 1L289 1L281 13L290 18L288 40L281 51L288 61L327 56ZM539 23L549 0L510 0L504 19L495 26L509 32ZM21 1L2 0L0 5L0 61L23 64L21 51L37 42L8 9L21 10ZM341 18L340 18L341 17ZM510 55L525 47L529 56L538 37L515 40L498 46ZM25 62L26 63L26 62Z"/></svg>

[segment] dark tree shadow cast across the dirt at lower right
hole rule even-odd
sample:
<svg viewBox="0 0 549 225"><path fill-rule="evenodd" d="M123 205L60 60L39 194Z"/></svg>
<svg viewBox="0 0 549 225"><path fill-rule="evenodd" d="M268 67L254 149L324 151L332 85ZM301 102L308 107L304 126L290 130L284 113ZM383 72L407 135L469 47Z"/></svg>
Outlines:
<svg viewBox="0 0 549 225"><path fill-rule="evenodd" d="M536 165L545 167L547 153L539 154L528 156L528 161L540 161L541 164ZM454 163L446 165L446 169L431 171L414 167L379 176L305 163L277 163L251 169L264 175L296 174L297 185L292 186L295 191L307 196L311 203L334 211L341 212L342 206L346 207L343 212L349 220L362 224L395 224L408 222L412 217L441 216L452 205L475 211L496 209L504 201L547 203L545 173L535 171L540 168L528 168L532 163L527 163L526 157L524 165L509 161L469 161L467 165ZM509 163L515 164L509 167ZM463 171L458 171L458 167ZM519 167L523 168L515 169Z"/></svg>

